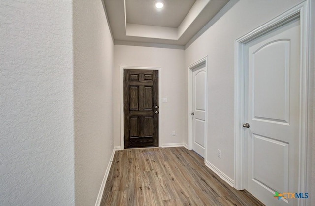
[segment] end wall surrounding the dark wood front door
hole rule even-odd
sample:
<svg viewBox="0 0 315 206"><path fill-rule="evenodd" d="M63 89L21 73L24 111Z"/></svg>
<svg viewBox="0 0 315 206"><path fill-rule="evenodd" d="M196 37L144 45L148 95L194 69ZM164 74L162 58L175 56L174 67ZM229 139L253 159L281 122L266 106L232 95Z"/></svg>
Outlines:
<svg viewBox="0 0 315 206"><path fill-rule="evenodd" d="M183 143L187 136L185 115L184 51L178 49L115 45L114 53L114 139L120 146L120 66L161 67L162 123L159 144ZM172 131L176 136L172 136Z"/></svg>

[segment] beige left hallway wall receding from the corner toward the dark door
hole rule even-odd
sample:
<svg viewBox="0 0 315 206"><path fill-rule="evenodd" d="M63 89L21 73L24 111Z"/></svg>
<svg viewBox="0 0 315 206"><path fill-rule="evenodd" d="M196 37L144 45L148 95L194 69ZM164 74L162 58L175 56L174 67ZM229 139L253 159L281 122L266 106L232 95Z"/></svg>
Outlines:
<svg viewBox="0 0 315 206"><path fill-rule="evenodd" d="M113 151L114 45L101 1L73 1L75 204L95 205Z"/></svg>

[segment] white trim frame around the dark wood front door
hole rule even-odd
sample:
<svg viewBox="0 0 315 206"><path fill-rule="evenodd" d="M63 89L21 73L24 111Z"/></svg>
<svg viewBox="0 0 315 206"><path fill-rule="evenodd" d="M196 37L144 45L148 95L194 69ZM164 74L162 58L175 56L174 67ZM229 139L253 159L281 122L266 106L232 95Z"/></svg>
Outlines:
<svg viewBox="0 0 315 206"><path fill-rule="evenodd" d="M158 70L158 147L161 145L161 123L162 118L162 68L161 67L130 67L120 66L120 146L124 150L124 69L139 69L139 70Z"/></svg>

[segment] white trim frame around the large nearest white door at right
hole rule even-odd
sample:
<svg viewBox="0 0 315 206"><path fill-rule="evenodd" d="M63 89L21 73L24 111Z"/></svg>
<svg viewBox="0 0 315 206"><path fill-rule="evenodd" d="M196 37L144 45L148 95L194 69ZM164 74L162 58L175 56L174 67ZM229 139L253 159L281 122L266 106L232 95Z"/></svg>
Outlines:
<svg viewBox="0 0 315 206"><path fill-rule="evenodd" d="M300 18L300 125L299 125L299 191L306 192L306 172L307 172L307 137L308 137L308 106L309 92L312 90L308 86L309 73L309 1L304 1L278 17L272 19L266 24L254 29L248 34L235 40L235 92L234 92L234 111L235 111L235 134L234 134L234 187L237 190L244 189L245 178L243 172L245 169L245 141L244 129L241 127L243 120L245 120L245 44L258 38L259 36L276 29L284 24L290 22L295 18ZM311 106L311 105L310 105ZM299 199L299 205L304 205L305 200Z"/></svg>

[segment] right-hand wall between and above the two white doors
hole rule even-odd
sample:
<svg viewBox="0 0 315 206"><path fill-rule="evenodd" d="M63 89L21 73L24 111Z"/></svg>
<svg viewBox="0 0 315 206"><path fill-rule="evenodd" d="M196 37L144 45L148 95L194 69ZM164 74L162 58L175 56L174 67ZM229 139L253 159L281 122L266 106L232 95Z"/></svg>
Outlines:
<svg viewBox="0 0 315 206"><path fill-rule="evenodd" d="M208 55L207 160L234 180L234 41L298 1L230 1L185 50L185 66ZM234 6L232 6L235 4ZM220 12L222 14L222 11ZM187 77L186 77L187 79ZM186 140L187 141L187 140ZM217 151L221 150L221 158Z"/></svg>

